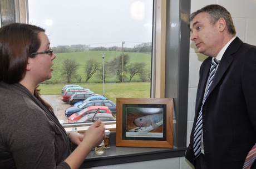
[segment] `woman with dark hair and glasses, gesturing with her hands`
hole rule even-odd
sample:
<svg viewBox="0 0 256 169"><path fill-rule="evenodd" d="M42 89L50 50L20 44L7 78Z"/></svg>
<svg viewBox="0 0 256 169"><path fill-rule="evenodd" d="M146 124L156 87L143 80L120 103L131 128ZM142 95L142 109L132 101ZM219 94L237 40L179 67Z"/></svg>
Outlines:
<svg viewBox="0 0 256 169"><path fill-rule="evenodd" d="M45 30L14 23L0 28L0 166L1 168L79 168L104 137L96 121L85 136L69 139L65 129L42 100L38 84L51 78L53 59Z"/></svg>

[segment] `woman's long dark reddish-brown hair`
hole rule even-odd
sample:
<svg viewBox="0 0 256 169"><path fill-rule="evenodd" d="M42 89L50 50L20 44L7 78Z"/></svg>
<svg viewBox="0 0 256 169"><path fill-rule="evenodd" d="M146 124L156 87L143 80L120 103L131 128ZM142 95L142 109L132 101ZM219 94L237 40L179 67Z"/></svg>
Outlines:
<svg viewBox="0 0 256 169"><path fill-rule="evenodd" d="M41 42L38 33L45 29L30 24L12 23L0 28L0 81L7 84L19 83L26 74L29 53L37 52ZM53 112L52 107L44 101L35 89L34 95Z"/></svg>

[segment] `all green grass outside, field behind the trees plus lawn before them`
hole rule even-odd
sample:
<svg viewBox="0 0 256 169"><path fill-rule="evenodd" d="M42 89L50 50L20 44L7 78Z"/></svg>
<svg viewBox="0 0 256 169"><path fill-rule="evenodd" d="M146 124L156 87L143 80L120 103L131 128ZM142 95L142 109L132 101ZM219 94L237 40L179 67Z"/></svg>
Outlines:
<svg viewBox="0 0 256 169"><path fill-rule="evenodd" d="M65 59L74 59L80 65L78 66L77 73L82 77L82 83L77 83L76 79L72 80L72 84L78 84L83 88L88 88L96 94L103 95L103 84L102 79L96 74L88 80L88 83L83 83L85 81L85 65L86 60L89 58L94 58L97 62L102 63L102 54L105 53L104 62L109 62L110 60L119 57L122 52L118 51L84 51L84 52L72 52L72 53L57 53L56 59L53 60L55 63L53 65L52 79L47 80L47 84L41 84L41 95L60 95L61 89L66 85L65 79L61 75L62 63ZM150 53L126 53L130 57L129 63L134 62L145 62L147 70L150 71L151 68L151 54ZM129 76L129 74L127 75ZM138 77L134 77L134 81L139 80ZM116 98L150 98L150 83L142 82L130 82L127 83L110 83L110 81L116 81L113 77L106 77L105 81L105 97L114 103L116 103Z"/></svg>

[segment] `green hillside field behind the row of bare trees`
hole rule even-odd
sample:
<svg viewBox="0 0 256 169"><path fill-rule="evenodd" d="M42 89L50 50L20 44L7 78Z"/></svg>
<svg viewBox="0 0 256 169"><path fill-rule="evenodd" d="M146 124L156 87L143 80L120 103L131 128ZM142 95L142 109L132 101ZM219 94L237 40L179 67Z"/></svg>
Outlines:
<svg viewBox="0 0 256 169"><path fill-rule="evenodd" d="M53 51L54 52L54 51ZM83 52L71 52L71 53L57 53L56 59L53 60L55 63L53 65L52 79L47 80L49 83L66 83L63 80L61 75L62 63L66 59L74 59L79 64L77 68L77 74L81 76L81 82L85 82L86 74L85 74L85 65L88 59L95 59L102 65L102 53L105 53L104 63L110 62L116 57L122 55L122 52L119 51L83 51ZM146 63L146 70L150 72L151 70L151 53L132 53L132 52L124 52L124 55L129 55L129 65L130 63ZM125 75L129 77L130 75L125 72ZM106 83L117 81L116 76L105 76ZM138 76L134 76L133 81L140 80ZM97 73L93 74L92 78L88 80L88 83L101 83L102 79L97 76ZM72 83L77 83L76 79L72 79Z"/></svg>

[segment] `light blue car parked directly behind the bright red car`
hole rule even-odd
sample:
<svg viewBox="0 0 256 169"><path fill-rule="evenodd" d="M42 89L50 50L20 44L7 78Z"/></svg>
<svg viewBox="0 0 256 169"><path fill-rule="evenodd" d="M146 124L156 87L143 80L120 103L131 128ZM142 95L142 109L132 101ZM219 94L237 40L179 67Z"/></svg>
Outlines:
<svg viewBox="0 0 256 169"><path fill-rule="evenodd" d="M69 117L73 113L78 112L82 109L85 109L86 107L89 107L89 106L107 106L107 107L109 107L112 114L116 114L116 104L113 103L112 101L110 101L110 100L92 100L92 101L86 101L85 103L83 103L79 106L68 107L65 110L65 116Z"/></svg>

